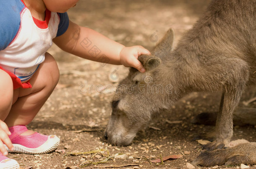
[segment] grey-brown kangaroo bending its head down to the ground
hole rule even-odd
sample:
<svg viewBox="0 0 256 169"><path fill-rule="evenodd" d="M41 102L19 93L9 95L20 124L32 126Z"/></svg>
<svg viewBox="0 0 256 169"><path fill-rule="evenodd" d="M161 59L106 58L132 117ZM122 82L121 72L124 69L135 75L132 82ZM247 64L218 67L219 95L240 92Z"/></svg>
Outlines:
<svg viewBox="0 0 256 169"><path fill-rule="evenodd" d="M256 143L222 150L232 136L233 112L244 89L256 84L256 1L213 0L174 50L172 43L170 29L152 55L138 58L146 72L131 68L120 81L104 131L107 142L130 144L153 114L192 91L222 91L215 139L194 164L210 166L208 158L213 160L219 153L228 155L214 159L214 165L223 161L256 164L256 156L251 155Z"/></svg>

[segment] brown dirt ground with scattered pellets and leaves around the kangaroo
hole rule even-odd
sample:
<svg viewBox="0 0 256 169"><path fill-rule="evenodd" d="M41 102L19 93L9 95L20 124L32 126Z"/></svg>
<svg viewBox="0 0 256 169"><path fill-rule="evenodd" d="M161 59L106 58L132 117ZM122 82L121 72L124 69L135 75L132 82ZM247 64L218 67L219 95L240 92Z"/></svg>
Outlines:
<svg viewBox="0 0 256 169"><path fill-rule="evenodd" d="M73 22L97 30L119 43L142 45L150 50L169 28L174 29L177 44L181 35L203 14L208 3L209 0L80 0L68 14ZM42 134L56 134L61 139L60 146L50 154L10 154L21 169L76 169L85 162L105 159L103 154L107 153L110 156L126 154L128 158L109 159L107 163L86 168L128 164L134 166L119 168L182 168L199 155L200 145L192 139L214 129L213 126L191 124L191 119L201 112L217 111L220 93L191 93L170 110L159 114L149 127L138 133L131 146L108 145L103 139L103 130L111 114L112 93L99 93L95 89L106 85L114 89L117 83L113 83L113 77L124 78L128 68L84 60L55 45L49 53L58 63L60 81L28 128ZM93 89L87 90L89 87ZM253 93L247 93L243 100L252 97ZM256 108L256 103L250 103L248 107ZM233 139L256 141L256 126L235 126ZM97 154L68 154L101 149L104 151ZM183 157L164 161L164 164L150 162L158 159L160 154L163 157L182 154ZM237 166L229 166L232 167Z"/></svg>

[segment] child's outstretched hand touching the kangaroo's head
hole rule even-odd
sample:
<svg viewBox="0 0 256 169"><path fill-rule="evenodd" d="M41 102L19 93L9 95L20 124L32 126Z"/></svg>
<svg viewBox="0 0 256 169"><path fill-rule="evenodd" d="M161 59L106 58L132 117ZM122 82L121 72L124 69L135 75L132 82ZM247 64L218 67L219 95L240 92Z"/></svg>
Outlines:
<svg viewBox="0 0 256 169"><path fill-rule="evenodd" d="M138 61L138 56L140 55L150 55L150 52L142 46L124 47L120 51L120 62L125 67L133 67L144 73L145 68L142 66L141 62Z"/></svg>

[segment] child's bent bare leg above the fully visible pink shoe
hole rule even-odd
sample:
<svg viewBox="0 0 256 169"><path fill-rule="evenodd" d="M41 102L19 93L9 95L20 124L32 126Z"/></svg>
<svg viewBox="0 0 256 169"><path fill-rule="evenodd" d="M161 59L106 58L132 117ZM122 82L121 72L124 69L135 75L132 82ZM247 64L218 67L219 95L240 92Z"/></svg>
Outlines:
<svg viewBox="0 0 256 169"><path fill-rule="evenodd" d="M30 79L32 88L18 89L18 98L13 99L10 113L5 123L10 126L27 125L37 115L47 98L52 93L59 80L57 63L49 53L45 54L45 61L41 63L34 76ZM15 90L16 92L16 90ZM26 131L23 135L33 134L34 131Z"/></svg>

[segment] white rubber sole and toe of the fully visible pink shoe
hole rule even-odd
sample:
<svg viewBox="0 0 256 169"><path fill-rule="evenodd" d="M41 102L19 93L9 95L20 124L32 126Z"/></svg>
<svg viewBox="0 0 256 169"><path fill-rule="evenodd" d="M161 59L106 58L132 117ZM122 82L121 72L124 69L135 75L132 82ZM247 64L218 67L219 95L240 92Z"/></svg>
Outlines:
<svg viewBox="0 0 256 169"><path fill-rule="evenodd" d="M49 136L50 137L50 136ZM50 139L48 138L44 144L37 148L28 148L22 146L21 144L13 144L14 150L10 151L10 149L5 145L5 149L9 153L24 153L24 154L46 154L54 151L60 144L60 139L55 136L55 138Z"/></svg>

